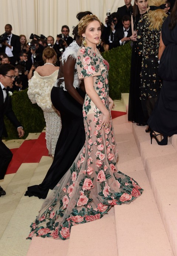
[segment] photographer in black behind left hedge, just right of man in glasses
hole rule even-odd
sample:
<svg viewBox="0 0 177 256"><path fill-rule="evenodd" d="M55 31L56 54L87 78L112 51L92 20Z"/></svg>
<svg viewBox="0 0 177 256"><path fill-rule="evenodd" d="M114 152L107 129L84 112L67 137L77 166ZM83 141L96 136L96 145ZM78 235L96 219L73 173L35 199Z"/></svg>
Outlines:
<svg viewBox="0 0 177 256"><path fill-rule="evenodd" d="M15 80L13 82L13 88L10 90L11 92L25 90L28 87L28 78L24 74L24 70L22 65L15 66Z"/></svg>

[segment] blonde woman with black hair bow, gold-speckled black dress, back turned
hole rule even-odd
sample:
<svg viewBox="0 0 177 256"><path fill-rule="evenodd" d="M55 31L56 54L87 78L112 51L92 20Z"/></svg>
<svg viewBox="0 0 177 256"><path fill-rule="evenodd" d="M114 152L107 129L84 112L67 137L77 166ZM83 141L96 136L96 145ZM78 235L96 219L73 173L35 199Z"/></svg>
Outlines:
<svg viewBox="0 0 177 256"><path fill-rule="evenodd" d="M150 117L153 108L156 104L162 80L157 75L158 50L160 43L160 31L162 24L166 19L165 1L164 0L149 0L150 10L143 18L143 51L142 51L142 69L140 73L140 99L144 116L147 119ZM146 132L150 132L150 127L147 126Z"/></svg>

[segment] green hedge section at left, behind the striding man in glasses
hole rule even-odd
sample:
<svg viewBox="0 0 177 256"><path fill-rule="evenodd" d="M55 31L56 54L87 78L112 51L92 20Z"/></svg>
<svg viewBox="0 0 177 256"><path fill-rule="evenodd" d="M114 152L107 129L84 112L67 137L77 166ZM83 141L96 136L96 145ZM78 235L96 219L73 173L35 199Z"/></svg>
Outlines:
<svg viewBox="0 0 177 256"><path fill-rule="evenodd" d="M41 132L45 127L44 113L37 104L32 104L28 98L27 90L13 92L10 96L13 111L24 128L26 138L30 132ZM17 129L11 124L8 118L4 117L8 139L18 139ZM6 138L3 138L6 139Z"/></svg>

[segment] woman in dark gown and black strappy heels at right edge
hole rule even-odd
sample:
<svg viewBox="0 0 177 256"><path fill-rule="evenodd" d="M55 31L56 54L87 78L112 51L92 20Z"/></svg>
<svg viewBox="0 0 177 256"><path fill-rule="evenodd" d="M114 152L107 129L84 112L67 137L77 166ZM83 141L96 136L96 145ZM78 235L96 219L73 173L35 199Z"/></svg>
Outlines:
<svg viewBox="0 0 177 256"><path fill-rule="evenodd" d="M148 125L152 129L151 139L167 145L167 137L177 134L177 1L162 26L159 60L163 85Z"/></svg>

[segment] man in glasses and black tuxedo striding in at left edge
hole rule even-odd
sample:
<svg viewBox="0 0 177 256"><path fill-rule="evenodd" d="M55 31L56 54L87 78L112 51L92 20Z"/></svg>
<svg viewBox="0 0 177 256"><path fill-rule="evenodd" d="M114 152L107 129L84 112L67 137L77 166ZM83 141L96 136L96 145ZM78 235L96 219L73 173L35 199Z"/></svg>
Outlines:
<svg viewBox="0 0 177 256"><path fill-rule="evenodd" d="M7 167L13 156L10 149L8 149L2 142L2 136L7 137L4 114L12 122L15 128L17 128L18 136L21 138L24 135L22 126L12 110L11 101L7 91L7 88L13 85L15 78L14 69L14 66L11 64L0 65L0 180L4 179ZM0 186L0 196L2 195L6 195L6 192Z"/></svg>

